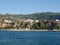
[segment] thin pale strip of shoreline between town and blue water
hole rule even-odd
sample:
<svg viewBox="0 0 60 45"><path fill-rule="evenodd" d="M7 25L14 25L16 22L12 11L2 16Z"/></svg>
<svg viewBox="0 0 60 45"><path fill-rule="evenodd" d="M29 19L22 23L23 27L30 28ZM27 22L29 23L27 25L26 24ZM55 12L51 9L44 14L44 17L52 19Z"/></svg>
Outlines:
<svg viewBox="0 0 60 45"><path fill-rule="evenodd" d="M60 31L60 29L53 29L53 30L47 30L47 29L33 29L33 30L25 30L25 29L0 29L1 31Z"/></svg>

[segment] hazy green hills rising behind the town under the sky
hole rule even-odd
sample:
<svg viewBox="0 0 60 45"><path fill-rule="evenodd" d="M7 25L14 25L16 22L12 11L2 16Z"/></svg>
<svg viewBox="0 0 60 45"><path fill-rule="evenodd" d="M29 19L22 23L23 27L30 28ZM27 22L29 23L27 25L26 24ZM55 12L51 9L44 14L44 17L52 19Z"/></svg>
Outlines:
<svg viewBox="0 0 60 45"><path fill-rule="evenodd" d="M60 19L60 13L53 13L53 12L42 12L42 13L33 13L33 14L0 14L0 19L34 19L34 20L42 20L42 19L49 19L55 20Z"/></svg>

